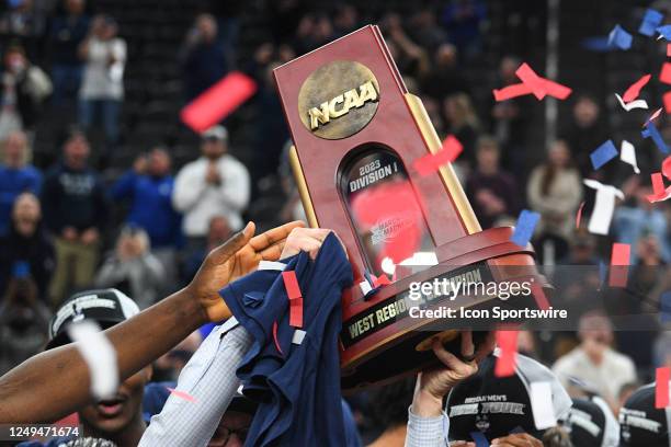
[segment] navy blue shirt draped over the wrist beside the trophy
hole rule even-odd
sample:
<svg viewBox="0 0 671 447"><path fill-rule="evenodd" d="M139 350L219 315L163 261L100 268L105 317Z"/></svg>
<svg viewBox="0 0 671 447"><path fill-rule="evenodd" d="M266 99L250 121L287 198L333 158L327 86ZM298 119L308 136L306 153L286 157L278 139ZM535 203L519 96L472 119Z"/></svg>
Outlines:
<svg viewBox="0 0 671 447"><path fill-rule="evenodd" d="M254 343L237 370L243 392L259 402L246 446L346 445L340 396L338 335L342 289L352 268L333 234L317 260L307 253L288 260L303 296L300 344L288 324L289 306L277 271L258 271L230 284L221 296ZM273 326L276 323L276 337Z"/></svg>

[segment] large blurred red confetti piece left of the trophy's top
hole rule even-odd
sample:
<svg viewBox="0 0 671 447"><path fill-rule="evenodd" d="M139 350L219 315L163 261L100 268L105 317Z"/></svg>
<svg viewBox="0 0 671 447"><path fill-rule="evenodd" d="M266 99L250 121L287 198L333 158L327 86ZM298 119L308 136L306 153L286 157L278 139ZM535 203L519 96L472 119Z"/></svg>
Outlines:
<svg viewBox="0 0 671 447"><path fill-rule="evenodd" d="M257 92L253 79L232 71L182 108L185 125L197 133L214 126Z"/></svg>

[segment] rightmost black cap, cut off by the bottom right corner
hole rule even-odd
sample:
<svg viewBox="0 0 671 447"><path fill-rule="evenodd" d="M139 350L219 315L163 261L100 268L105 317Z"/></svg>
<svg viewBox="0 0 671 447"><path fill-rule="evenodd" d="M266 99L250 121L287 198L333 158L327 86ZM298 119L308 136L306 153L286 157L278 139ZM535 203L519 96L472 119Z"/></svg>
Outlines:
<svg viewBox="0 0 671 447"><path fill-rule="evenodd" d="M619 410L619 447L669 447L671 408L655 408L655 382L640 387Z"/></svg>

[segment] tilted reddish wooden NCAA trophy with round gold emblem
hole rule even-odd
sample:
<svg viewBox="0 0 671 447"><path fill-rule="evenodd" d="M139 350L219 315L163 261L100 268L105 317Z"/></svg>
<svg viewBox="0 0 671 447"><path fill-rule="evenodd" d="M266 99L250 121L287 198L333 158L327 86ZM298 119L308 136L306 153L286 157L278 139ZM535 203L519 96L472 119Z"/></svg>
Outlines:
<svg viewBox="0 0 671 447"><path fill-rule="evenodd" d="M450 164L430 175L413 169L414 160L441 149L441 140L420 99L407 91L377 26L300 56L276 68L274 77L308 224L340 236L354 274L354 286L342 297L343 389L435 363L430 345L436 334L458 352L458 329L473 328L471 322L451 321L445 328L441 319L410 318L411 283L532 277L549 288L535 268L531 245L510 242L512 228L482 231ZM386 196L375 196L385 191ZM360 283L385 275L385 241L395 237L401 244L413 241L414 251L434 253L437 263L419 272L397 268L389 284L366 294ZM494 300L500 301L456 297L429 307L485 308ZM485 334L474 332L476 344Z"/></svg>

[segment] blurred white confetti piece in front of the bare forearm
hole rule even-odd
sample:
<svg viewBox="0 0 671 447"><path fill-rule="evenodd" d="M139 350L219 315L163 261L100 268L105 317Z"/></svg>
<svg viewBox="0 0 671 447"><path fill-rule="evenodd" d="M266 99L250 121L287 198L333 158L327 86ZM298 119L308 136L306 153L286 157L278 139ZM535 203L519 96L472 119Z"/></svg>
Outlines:
<svg viewBox="0 0 671 447"><path fill-rule="evenodd" d="M91 393L96 399L114 396L118 388L118 368L112 343L91 320L72 323L67 331L89 367Z"/></svg>

